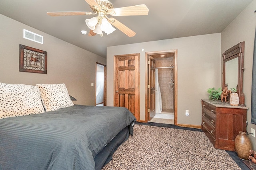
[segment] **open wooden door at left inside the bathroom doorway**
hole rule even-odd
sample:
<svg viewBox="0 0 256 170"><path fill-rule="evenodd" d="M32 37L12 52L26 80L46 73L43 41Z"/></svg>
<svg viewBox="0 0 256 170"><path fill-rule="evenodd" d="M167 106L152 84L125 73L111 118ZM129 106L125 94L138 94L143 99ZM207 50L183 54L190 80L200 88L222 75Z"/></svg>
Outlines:
<svg viewBox="0 0 256 170"><path fill-rule="evenodd" d="M150 121L155 115L155 92L156 92L156 60L148 56L148 121Z"/></svg>

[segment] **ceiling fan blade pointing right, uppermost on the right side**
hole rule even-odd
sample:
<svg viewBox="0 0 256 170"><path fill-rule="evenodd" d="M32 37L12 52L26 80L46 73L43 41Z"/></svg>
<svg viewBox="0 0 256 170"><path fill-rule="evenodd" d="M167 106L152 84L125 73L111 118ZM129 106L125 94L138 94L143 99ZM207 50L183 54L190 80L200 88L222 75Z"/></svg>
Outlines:
<svg viewBox="0 0 256 170"><path fill-rule="evenodd" d="M145 4L141 4L121 8L112 8L108 10L108 14L112 16L146 16L148 15L148 7Z"/></svg>

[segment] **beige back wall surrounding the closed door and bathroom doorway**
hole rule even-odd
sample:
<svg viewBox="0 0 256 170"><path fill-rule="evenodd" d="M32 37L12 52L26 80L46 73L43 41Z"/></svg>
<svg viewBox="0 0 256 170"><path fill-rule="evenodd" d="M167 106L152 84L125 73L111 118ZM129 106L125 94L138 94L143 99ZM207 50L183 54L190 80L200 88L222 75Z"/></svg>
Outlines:
<svg viewBox="0 0 256 170"><path fill-rule="evenodd" d="M144 51L142 51L144 49ZM107 106L114 105L114 55L140 53L140 121L145 120L146 52L178 50L178 124L201 125L201 98L220 87L220 33L107 47ZM190 116L185 116L189 110Z"/></svg>

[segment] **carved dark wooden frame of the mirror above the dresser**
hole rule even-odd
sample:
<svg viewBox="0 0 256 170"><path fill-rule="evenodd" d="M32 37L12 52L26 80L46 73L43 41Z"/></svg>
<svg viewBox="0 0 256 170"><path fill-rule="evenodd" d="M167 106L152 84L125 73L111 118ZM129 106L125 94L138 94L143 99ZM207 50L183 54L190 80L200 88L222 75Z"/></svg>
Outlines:
<svg viewBox="0 0 256 170"><path fill-rule="evenodd" d="M244 41L238 43L237 45L226 50L223 54L223 79L222 79L222 89L224 89L226 84L226 62L238 57L238 87L237 93L239 96L239 104L244 105L244 93L243 93L243 76L244 76Z"/></svg>

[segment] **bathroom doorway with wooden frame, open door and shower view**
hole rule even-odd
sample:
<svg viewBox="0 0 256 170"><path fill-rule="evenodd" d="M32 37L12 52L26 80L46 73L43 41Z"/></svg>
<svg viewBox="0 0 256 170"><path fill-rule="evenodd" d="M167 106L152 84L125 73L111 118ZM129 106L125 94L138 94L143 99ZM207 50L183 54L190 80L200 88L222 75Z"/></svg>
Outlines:
<svg viewBox="0 0 256 170"><path fill-rule="evenodd" d="M146 121L177 125L177 50L146 53Z"/></svg>

